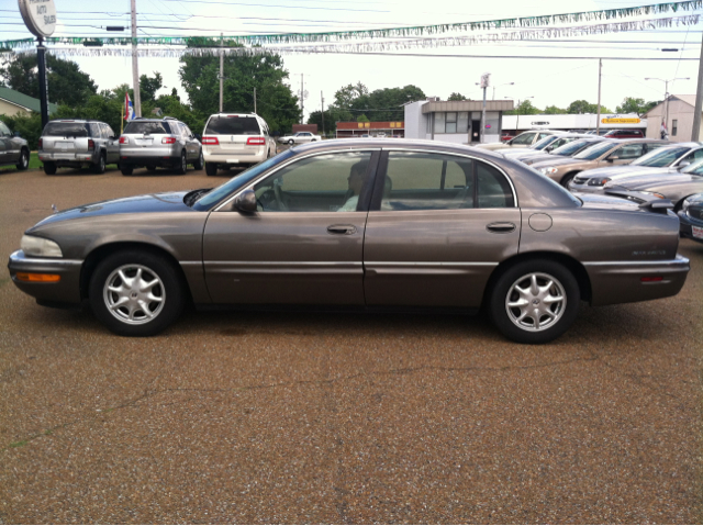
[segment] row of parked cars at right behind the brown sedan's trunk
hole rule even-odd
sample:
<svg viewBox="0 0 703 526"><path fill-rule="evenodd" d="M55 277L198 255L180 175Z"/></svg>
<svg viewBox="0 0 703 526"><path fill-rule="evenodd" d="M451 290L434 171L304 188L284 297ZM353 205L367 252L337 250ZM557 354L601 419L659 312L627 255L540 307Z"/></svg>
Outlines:
<svg viewBox="0 0 703 526"><path fill-rule="evenodd" d="M479 147L525 164L577 195L607 194L640 203L651 197L670 200L681 236L703 243L703 143L526 133L544 136L527 148Z"/></svg>

